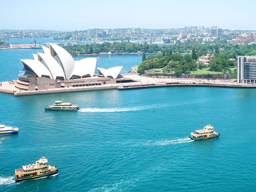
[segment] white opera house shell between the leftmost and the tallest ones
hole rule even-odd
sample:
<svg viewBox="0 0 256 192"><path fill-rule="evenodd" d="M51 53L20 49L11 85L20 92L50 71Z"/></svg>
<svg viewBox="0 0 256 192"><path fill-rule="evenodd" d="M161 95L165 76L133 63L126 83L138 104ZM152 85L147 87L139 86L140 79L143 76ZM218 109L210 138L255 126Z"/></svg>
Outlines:
<svg viewBox="0 0 256 192"><path fill-rule="evenodd" d="M48 49L48 48L47 48ZM39 61L46 65L51 74L53 79L56 79L56 77L60 78L62 77L63 80L65 80L65 75L63 72L63 69L60 67L59 63L50 55L46 53L37 53Z"/></svg>

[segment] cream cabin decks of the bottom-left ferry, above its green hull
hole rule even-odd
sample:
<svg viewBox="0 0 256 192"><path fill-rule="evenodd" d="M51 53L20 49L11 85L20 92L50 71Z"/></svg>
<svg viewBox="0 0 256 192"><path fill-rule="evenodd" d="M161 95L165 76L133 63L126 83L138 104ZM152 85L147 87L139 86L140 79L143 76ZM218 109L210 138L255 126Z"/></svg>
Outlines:
<svg viewBox="0 0 256 192"><path fill-rule="evenodd" d="M15 169L15 178L24 178L28 176L36 176L54 171L55 167L47 164L47 159L40 158L35 164L22 166L22 169Z"/></svg>

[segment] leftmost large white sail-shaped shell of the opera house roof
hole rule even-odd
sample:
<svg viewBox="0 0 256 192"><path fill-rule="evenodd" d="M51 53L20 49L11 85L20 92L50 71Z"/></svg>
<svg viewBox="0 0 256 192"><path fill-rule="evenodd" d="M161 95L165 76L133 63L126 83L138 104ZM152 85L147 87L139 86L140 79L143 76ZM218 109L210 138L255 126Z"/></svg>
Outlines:
<svg viewBox="0 0 256 192"><path fill-rule="evenodd" d="M32 70L38 77L49 76L52 79L50 71L38 60L21 59L26 70Z"/></svg>

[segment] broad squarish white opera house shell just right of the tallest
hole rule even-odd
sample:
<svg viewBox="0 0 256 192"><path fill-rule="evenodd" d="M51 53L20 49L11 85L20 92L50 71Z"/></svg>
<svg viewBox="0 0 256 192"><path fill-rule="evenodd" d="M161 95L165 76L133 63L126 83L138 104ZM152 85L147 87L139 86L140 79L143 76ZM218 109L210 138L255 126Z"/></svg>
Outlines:
<svg viewBox="0 0 256 192"><path fill-rule="evenodd" d="M96 62L97 62L97 58L85 58L79 61L75 61L75 67L74 70L72 72L72 76L76 75L76 76L93 76L94 72L95 72L95 68L96 68Z"/></svg>

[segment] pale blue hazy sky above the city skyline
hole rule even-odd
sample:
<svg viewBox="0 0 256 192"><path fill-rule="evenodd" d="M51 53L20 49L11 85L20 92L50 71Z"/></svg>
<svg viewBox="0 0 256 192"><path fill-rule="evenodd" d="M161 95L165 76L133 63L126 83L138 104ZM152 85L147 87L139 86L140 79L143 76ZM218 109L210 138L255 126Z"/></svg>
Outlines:
<svg viewBox="0 0 256 192"><path fill-rule="evenodd" d="M195 25L256 29L255 0L0 0L0 4L1 29L72 31Z"/></svg>

